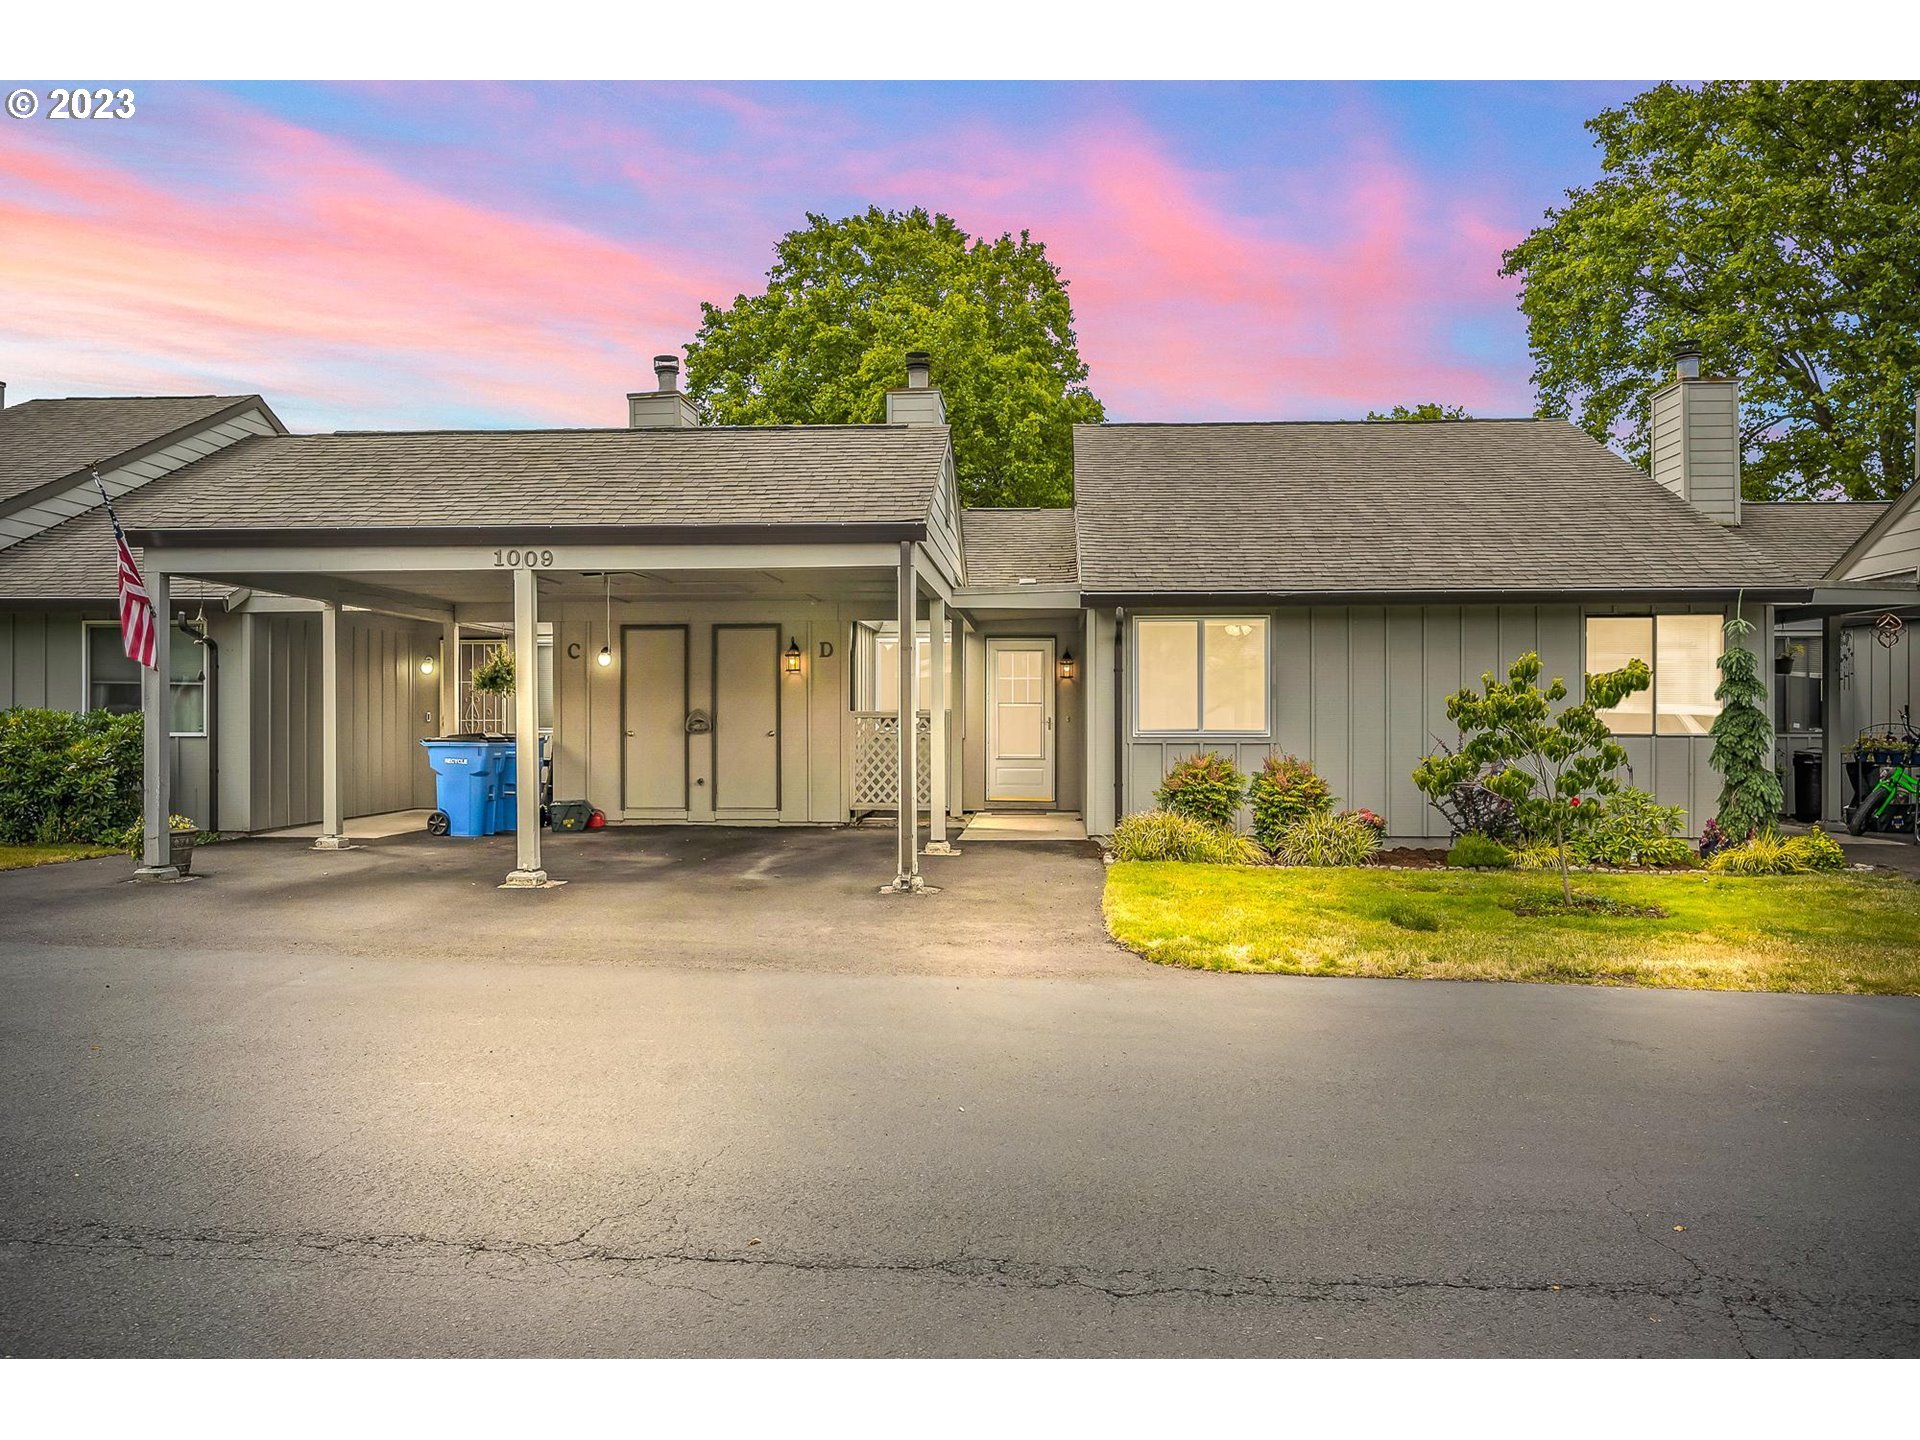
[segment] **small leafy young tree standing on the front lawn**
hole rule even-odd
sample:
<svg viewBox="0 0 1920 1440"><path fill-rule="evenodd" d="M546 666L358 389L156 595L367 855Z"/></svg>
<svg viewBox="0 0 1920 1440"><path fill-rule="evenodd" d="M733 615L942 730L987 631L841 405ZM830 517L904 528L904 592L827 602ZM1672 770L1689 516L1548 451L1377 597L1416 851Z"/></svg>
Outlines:
<svg viewBox="0 0 1920 1440"><path fill-rule="evenodd" d="M1461 747L1428 755L1413 783L1428 797L1452 795L1455 785L1476 780L1513 801L1521 828L1553 843L1559 856L1561 897L1572 900L1567 874L1567 835L1578 822L1582 795L1619 789L1613 772L1626 764L1626 751L1613 739L1599 710L1647 689L1653 672L1645 660L1586 678L1586 697L1555 712L1567 699L1567 682L1540 687L1540 657L1528 651L1507 666L1507 678L1480 676L1480 691L1463 689L1446 703L1448 720L1459 726ZM1597 812L1597 806L1590 814Z"/></svg>

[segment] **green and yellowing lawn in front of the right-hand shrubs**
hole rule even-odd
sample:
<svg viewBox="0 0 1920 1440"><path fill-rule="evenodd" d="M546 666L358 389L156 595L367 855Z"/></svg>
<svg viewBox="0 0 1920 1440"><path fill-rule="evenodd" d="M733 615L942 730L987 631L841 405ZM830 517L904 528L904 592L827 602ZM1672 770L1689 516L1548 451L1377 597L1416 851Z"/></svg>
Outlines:
<svg viewBox="0 0 1920 1440"><path fill-rule="evenodd" d="M1667 918L1523 916L1557 876L1123 862L1106 925L1204 970L1920 995L1920 885L1899 876L1576 876Z"/></svg>

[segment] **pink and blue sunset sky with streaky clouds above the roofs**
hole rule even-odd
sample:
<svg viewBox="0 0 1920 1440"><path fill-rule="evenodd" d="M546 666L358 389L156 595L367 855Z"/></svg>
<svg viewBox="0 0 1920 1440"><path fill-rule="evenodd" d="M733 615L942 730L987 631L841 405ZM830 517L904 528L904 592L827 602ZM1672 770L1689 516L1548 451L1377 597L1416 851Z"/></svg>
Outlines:
<svg viewBox="0 0 1920 1440"><path fill-rule="evenodd" d="M1500 252L1644 84L140 84L0 119L8 399L620 424L806 211L1027 228L1114 419L1532 409Z"/></svg>

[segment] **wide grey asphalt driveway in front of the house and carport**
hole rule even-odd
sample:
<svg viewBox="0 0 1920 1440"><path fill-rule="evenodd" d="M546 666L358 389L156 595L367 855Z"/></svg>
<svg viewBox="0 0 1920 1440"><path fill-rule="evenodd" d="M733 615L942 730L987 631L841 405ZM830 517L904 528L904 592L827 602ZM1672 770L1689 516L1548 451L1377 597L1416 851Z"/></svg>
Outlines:
<svg viewBox="0 0 1920 1440"><path fill-rule="evenodd" d="M1920 1352L1916 1000L1171 972L1079 847L595 839L0 874L0 1352Z"/></svg>

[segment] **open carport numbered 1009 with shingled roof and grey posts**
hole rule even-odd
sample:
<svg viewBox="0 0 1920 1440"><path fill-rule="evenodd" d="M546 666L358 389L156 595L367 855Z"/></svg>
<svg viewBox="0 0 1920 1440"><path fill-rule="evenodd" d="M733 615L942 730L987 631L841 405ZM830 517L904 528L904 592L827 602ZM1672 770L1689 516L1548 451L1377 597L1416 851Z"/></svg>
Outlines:
<svg viewBox="0 0 1920 1440"><path fill-rule="evenodd" d="M854 764L876 760L872 735L852 753L851 630L925 622L939 647L962 584L947 428L931 422L273 436L209 457L192 488L154 486L127 526L161 609L180 580L321 607L317 849L346 845L344 778L361 760L342 685L357 611L440 628L432 733L459 728L463 632L511 636L522 778L540 774L545 628L557 799L616 822L843 824ZM142 687L148 877L171 876L169 778L152 756L175 639L161 632ZM916 666L899 670L881 732L893 793L924 799L939 851L960 774L947 666L925 695ZM895 810L889 887L916 891L918 806ZM551 883L540 787L520 783L505 885Z"/></svg>

